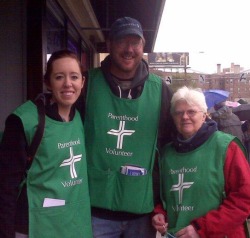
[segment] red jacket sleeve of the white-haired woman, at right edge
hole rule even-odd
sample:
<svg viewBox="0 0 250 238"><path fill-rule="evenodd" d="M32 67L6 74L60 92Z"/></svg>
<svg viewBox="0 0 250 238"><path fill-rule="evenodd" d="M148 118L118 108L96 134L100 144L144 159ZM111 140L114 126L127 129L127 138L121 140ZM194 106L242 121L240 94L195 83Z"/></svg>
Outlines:
<svg viewBox="0 0 250 238"><path fill-rule="evenodd" d="M192 221L201 237L226 235L243 226L250 214L250 168L240 149L231 142L224 165L226 198L217 210Z"/></svg>

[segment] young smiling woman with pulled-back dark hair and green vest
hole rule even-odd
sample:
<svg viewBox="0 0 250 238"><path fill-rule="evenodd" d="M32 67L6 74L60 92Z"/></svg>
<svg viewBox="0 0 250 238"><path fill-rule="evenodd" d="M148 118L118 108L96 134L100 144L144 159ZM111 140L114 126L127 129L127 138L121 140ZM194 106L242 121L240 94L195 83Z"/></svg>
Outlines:
<svg viewBox="0 0 250 238"><path fill-rule="evenodd" d="M8 116L0 148L1 238L92 238L82 120L74 103L84 85L82 66L69 50L54 52L39 95L46 113L44 135L26 183L28 151L38 125L35 102ZM20 193L20 194L19 194Z"/></svg>

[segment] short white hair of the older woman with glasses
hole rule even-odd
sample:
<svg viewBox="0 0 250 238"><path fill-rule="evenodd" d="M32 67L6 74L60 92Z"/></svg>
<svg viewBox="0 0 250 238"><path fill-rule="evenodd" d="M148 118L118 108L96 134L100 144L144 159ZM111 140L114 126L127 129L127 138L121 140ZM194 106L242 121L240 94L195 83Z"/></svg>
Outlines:
<svg viewBox="0 0 250 238"><path fill-rule="evenodd" d="M173 95L171 100L171 113L174 113L176 102L184 100L189 106L197 106L202 112L207 113L205 95L200 88L183 86Z"/></svg>

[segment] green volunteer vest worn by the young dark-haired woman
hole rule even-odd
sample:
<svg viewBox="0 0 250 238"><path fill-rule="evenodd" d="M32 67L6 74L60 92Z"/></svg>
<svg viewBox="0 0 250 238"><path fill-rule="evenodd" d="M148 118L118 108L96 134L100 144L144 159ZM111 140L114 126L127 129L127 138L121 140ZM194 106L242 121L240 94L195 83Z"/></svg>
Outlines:
<svg viewBox="0 0 250 238"><path fill-rule="evenodd" d="M15 112L31 143L38 124L28 101ZM92 238L85 140L80 115L71 122L46 117L44 136L27 174L29 238Z"/></svg>

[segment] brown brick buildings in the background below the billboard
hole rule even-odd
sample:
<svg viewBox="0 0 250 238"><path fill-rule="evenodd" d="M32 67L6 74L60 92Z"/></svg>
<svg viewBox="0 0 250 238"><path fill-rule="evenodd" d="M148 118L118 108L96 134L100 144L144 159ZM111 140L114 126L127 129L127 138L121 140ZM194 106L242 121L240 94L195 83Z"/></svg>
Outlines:
<svg viewBox="0 0 250 238"><path fill-rule="evenodd" d="M151 67L150 70L164 78L174 91L183 85L202 90L221 89L230 92L228 98L230 101L242 99L250 103L250 70L244 71L239 65L233 63L229 68L222 70L220 65L217 65L215 74L184 73L183 70L181 73L165 72L155 70L155 67Z"/></svg>

